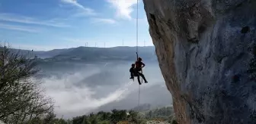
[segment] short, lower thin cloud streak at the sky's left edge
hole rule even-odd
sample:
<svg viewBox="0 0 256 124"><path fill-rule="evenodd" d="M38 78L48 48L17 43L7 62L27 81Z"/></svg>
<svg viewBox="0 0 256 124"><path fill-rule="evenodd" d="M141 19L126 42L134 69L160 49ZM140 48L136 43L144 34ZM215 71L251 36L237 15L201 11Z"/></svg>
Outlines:
<svg viewBox="0 0 256 124"><path fill-rule="evenodd" d="M39 32L39 29L27 27L27 26L14 26L14 25L8 25L4 23L0 23L1 29L11 29L11 30L18 30L23 32L29 32L29 33L37 33Z"/></svg>

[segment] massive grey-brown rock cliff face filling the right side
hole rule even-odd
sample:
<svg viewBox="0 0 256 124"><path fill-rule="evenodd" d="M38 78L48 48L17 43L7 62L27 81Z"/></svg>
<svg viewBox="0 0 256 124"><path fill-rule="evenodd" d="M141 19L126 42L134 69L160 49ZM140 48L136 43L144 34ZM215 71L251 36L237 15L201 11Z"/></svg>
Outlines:
<svg viewBox="0 0 256 124"><path fill-rule="evenodd" d="M143 0L180 124L256 123L256 0Z"/></svg>

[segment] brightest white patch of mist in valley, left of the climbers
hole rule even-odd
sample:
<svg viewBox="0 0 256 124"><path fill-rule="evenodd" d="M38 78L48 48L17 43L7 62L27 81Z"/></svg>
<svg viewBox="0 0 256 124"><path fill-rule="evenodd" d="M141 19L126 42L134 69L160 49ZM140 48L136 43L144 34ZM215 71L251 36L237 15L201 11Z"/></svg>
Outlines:
<svg viewBox="0 0 256 124"><path fill-rule="evenodd" d="M88 82L83 82L83 86L75 86L75 83L82 82L83 79L98 73L101 73L101 69L95 67L90 71L85 70L72 74L62 73L61 78L52 76L42 79L46 94L56 101L55 110L59 116L70 117L85 114L113 101L120 101L130 94L128 89L132 83L124 83L126 85L120 86L114 91L111 90L107 96L101 98L94 98L94 95L101 94L101 91L86 86Z"/></svg>

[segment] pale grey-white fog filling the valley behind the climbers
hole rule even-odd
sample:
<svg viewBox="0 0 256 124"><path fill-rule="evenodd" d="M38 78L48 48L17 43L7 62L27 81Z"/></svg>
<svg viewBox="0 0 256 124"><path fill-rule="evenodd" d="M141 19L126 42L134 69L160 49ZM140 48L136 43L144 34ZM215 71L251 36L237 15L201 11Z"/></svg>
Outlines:
<svg viewBox="0 0 256 124"><path fill-rule="evenodd" d="M171 94L158 63L145 63L143 73L148 83L140 86L140 104L170 105ZM55 101L57 116L70 118L91 111L131 109L138 105L139 84L129 79L130 64L49 64L41 66L41 81L46 95Z"/></svg>

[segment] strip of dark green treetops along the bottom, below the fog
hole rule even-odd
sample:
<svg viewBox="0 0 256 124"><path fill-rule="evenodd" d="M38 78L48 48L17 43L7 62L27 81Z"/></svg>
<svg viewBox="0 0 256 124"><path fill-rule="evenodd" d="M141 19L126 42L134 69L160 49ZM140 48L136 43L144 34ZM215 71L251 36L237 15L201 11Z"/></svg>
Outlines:
<svg viewBox="0 0 256 124"><path fill-rule="evenodd" d="M49 114L44 119L35 118L28 123L38 122L55 124L144 124L148 121L175 123L172 107L162 107L153 110L137 112L134 110L111 110L100 111L88 115L76 116L72 119L57 119L55 115Z"/></svg>

